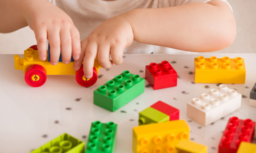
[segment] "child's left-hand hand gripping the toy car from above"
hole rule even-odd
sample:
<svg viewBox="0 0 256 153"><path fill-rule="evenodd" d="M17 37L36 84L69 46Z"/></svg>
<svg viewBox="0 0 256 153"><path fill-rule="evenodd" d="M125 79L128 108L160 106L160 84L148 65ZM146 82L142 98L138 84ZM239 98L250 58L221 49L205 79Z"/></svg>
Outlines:
<svg viewBox="0 0 256 153"><path fill-rule="evenodd" d="M47 38L51 47L51 64L58 64L60 54L68 64L81 57L79 32L70 16L48 1L31 1L24 12L25 20L36 36L39 57L47 58Z"/></svg>

